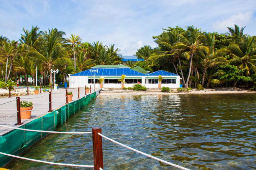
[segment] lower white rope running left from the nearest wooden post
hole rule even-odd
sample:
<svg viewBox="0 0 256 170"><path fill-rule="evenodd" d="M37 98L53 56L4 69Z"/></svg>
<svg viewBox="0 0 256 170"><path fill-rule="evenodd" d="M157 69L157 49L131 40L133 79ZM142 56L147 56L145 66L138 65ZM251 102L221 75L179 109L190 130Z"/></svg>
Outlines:
<svg viewBox="0 0 256 170"><path fill-rule="evenodd" d="M48 162L48 161L44 161L44 160L30 159L30 158L25 158L25 157L21 157L21 156L11 155L8 153L3 153L3 152L0 152L0 154L6 155L6 156L11 156L14 158L20 158L20 159L25 159L25 160L35 161L35 162L41 162L41 163L45 163L45 164L52 164L52 165L77 166L77 167L87 167L87 168L94 167L93 165L78 165L78 164L64 164L64 163L57 163L57 162Z"/></svg>

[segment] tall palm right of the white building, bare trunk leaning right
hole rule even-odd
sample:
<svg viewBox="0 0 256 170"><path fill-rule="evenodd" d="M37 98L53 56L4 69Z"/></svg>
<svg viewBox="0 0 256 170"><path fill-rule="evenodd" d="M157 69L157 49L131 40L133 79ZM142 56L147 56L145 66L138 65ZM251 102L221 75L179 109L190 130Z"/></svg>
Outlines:
<svg viewBox="0 0 256 170"><path fill-rule="evenodd" d="M180 41L173 48L177 50L182 50L183 56L186 56L190 60L189 70L188 70L188 78L185 84L185 88L188 88L189 77L191 75L193 56L197 51L203 51L208 53L208 47L204 46L203 43L199 41L202 35L199 34L198 29L193 26L188 26L188 29L180 34Z"/></svg>

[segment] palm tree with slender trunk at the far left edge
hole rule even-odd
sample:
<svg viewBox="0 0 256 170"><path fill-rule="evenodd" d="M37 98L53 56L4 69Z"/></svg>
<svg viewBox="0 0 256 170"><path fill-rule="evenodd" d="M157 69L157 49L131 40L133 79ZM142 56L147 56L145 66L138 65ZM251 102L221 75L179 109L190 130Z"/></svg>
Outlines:
<svg viewBox="0 0 256 170"><path fill-rule="evenodd" d="M6 58L5 79L4 79L5 82L10 77L10 73L11 73L11 70L12 70L12 64L13 64L13 59L18 55L17 49L18 49L18 42L17 41L3 41L2 46L0 47L0 50L2 51L0 56ZM9 72L8 72L8 75L7 75L8 61L9 60L10 60L10 67L9 67Z"/></svg>

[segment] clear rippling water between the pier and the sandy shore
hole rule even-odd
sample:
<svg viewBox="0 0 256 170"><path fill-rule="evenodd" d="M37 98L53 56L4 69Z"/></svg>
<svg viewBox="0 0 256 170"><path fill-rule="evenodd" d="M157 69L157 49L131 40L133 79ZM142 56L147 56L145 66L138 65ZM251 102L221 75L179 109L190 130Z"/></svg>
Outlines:
<svg viewBox="0 0 256 170"><path fill-rule="evenodd" d="M99 96L58 131L102 133L191 169L256 168L256 95ZM91 135L48 135L22 156L93 165ZM104 169L172 169L103 140ZM13 159L9 169L93 169Z"/></svg>

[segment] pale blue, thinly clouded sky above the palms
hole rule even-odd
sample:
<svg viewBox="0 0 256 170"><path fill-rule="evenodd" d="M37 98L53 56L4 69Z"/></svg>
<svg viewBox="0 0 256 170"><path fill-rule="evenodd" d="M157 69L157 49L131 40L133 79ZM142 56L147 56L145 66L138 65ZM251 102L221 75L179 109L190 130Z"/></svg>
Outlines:
<svg viewBox="0 0 256 170"><path fill-rule="evenodd" d="M156 47L152 36L168 26L226 33L236 24L256 35L255 21L255 0L0 0L0 35L11 40L20 39L23 27L57 28L66 38L76 34L83 42L115 44L122 55Z"/></svg>

